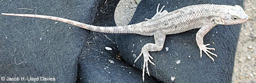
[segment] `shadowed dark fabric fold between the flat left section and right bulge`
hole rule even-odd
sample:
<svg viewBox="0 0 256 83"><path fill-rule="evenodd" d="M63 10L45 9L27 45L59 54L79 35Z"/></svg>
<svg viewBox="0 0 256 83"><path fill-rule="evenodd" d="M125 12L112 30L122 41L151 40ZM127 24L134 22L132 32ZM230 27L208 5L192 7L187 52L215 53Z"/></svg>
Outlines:
<svg viewBox="0 0 256 83"><path fill-rule="evenodd" d="M116 26L114 11L118 2L99 1L93 25ZM142 71L125 63L122 58L117 59L120 53L116 43L113 43L115 35L89 32L89 38L79 57L77 82L142 82ZM105 50L105 47L112 48L112 51ZM147 77L145 82L155 83L157 80Z"/></svg>

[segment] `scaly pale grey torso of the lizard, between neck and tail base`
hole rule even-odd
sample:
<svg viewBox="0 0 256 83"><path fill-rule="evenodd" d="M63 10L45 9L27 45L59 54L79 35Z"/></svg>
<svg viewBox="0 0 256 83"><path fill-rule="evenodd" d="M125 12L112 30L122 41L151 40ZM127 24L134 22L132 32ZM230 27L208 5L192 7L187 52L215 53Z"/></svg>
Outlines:
<svg viewBox="0 0 256 83"><path fill-rule="evenodd" d="M205 23L214 22L213 18L219 17L220 14L222 14L221 10L224 10L225 6L226 5L200 4L183 7L157 19L141 22L139 24L143 27L139 27L139 29L144 29L152 33L157 30L162 30L167 34L175 34L194 28L200 28Z"/></svg>

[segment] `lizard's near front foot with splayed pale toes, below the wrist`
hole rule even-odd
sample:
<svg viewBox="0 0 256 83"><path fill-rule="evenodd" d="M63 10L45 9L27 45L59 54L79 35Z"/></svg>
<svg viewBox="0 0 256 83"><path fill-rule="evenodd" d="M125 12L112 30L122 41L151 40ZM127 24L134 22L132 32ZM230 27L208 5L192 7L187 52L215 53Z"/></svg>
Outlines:
<svg viewBox="0 0 256 83"><path fill-rule="evenodd" d="M207 48L206 46L209 46L210 44L207 44L207 45L199 45L199 49L200 49L200 58L202 58L202 51L204 51L204 53L209 56L210 59L212 59L212 61L214 61L214 58L212 58L212 56L209 55L209 53L211 55L214 55L217 57L217 55L215 55L214 53L210 52L209 50L214 50L214 48Z"/></svg>

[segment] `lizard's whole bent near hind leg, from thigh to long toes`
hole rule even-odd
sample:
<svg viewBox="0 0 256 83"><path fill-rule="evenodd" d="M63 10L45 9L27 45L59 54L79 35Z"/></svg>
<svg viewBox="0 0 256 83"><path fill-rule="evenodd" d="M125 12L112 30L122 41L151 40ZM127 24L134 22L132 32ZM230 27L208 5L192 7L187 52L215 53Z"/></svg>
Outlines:
<svg viewBox="0 0 256 83"><path fill-rule="evenodd" d="M154 34L155 38L155 44L154 43L147 43L142 47L140 55L137 57L137 59L140 58L141 55L144 57L144 64L142 69L142 80L144 81L144 74L145 74L145 67L147 68L147 74L149 74L149 68L148 68L148 62L155 65L150 59L153 59L152 56L150 56L149 51L161 51L164 47L164 41L165 41L165 34L164 32L157 32ZM134 63L137 61L135 59ZM150 76L150 75L149 75Z"/></svg>

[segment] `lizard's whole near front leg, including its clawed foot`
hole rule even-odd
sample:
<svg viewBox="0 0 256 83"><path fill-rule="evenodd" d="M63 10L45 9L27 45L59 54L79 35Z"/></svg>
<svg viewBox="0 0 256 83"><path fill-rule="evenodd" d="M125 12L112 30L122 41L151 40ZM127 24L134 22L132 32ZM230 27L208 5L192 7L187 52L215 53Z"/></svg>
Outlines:
<svg viewBox="0 0 256 83"><path fill-rule="evenodd" d="M210 24L210 25L205 25L202 28L200 28L200 30L197 32L196 35L196 40L197 40L197 45L199 46L200 49L200 58L202 58L202 51L204 51L204 53L209 56L210 59L212 59L212 61L214 61L214 58L212 58L208 53L214 55L217 57L217 55L215 55L214 53L210 52L209 50L214 50L214 48L207 48L206 46L209 46L210 44L206 44L204 45L204 35L206 33L208 33L216 24Z"/></svg>

